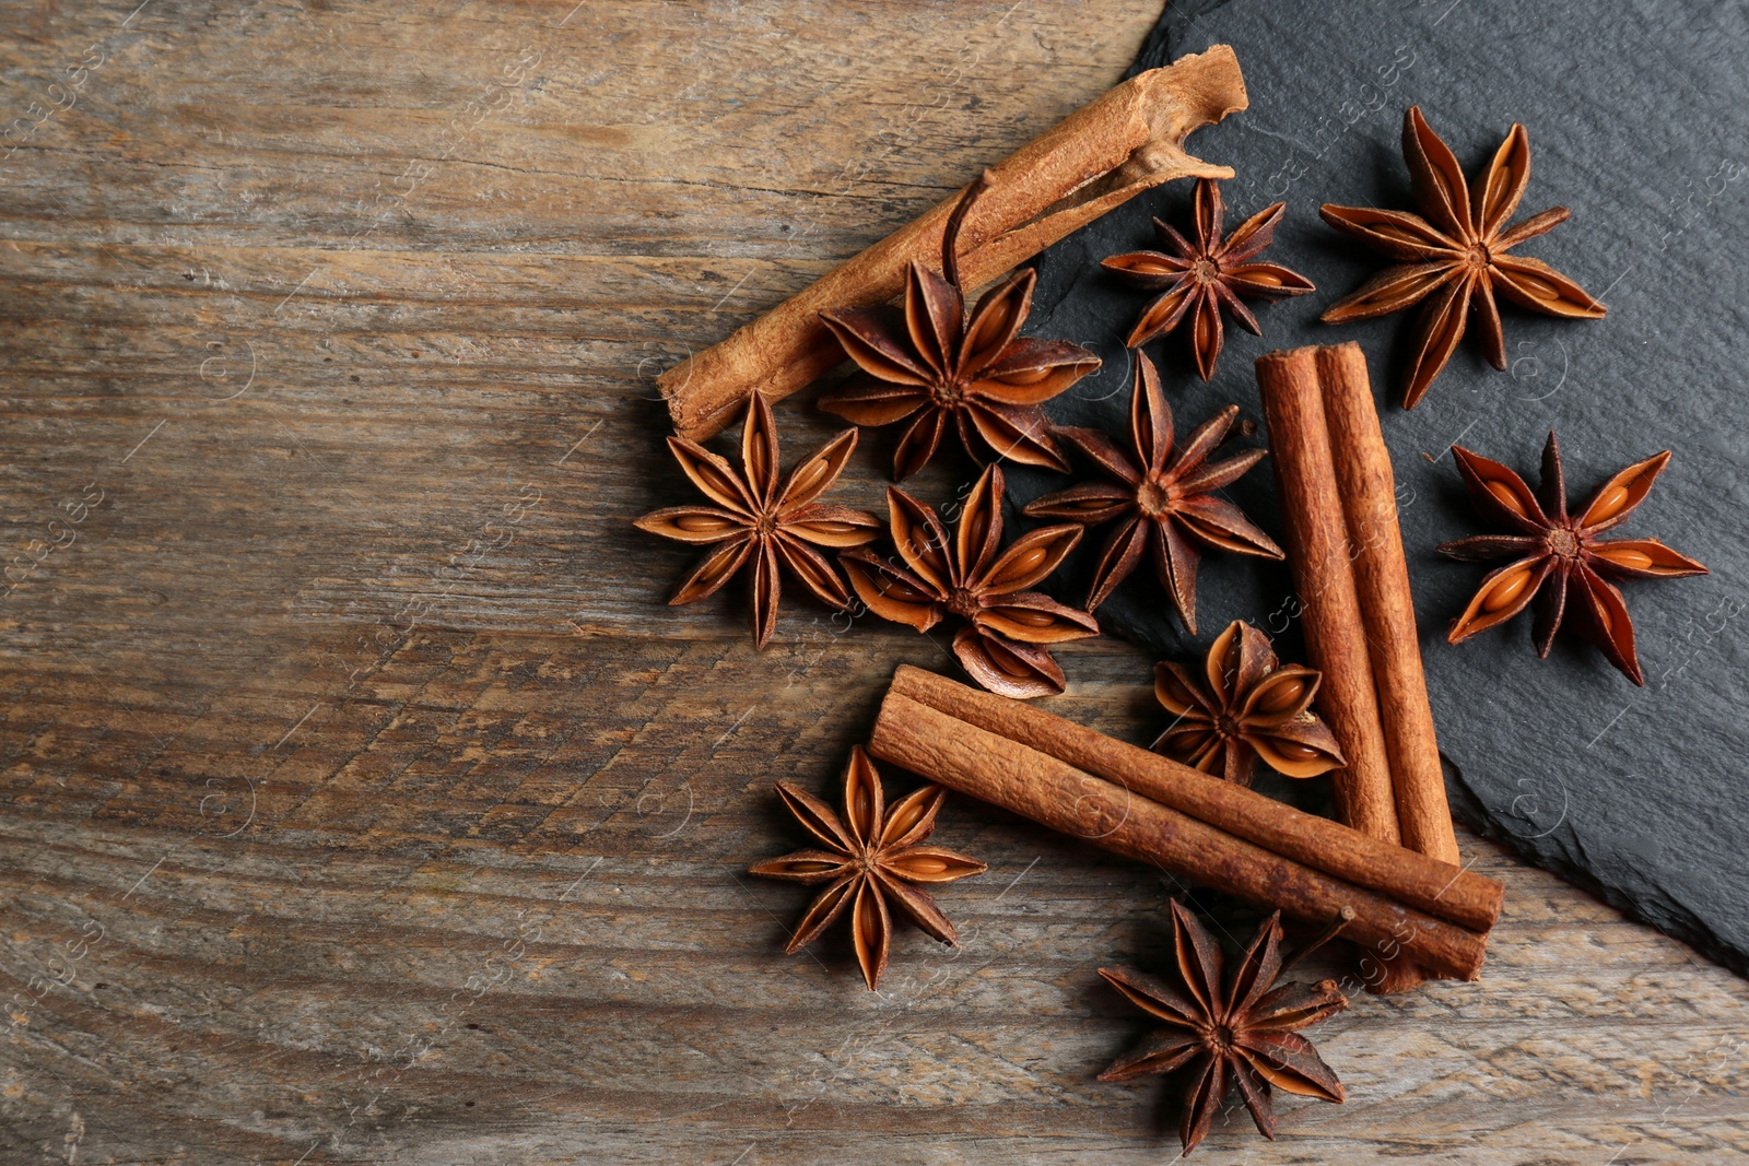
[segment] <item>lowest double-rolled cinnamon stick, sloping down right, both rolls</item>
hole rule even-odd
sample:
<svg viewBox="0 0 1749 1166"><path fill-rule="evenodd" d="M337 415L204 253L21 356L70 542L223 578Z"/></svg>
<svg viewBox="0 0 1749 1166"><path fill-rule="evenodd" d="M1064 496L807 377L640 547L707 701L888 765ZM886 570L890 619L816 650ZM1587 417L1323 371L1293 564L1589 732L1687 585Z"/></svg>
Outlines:
<svg viewBox="0 0 1749 1166"><path fill-rule="evenodd" d="M1352 907L1355 940L1439 975L1476 979L1499 918L1492 879L916 668L894 675L869 752L1259 907Z"/></svg>

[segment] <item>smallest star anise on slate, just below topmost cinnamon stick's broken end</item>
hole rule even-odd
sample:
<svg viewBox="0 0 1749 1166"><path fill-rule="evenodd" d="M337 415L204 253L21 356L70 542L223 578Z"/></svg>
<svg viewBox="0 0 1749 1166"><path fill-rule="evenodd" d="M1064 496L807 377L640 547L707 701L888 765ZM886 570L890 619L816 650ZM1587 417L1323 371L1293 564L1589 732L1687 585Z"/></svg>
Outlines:
<svg viewBox="0 0 1749 1166"><path fill-rule="evenodd" d="M1275 226L1282 220L1286 208L1287 203L1265 206L1238 224L1233 234L1223 238L1221 219L1226 213L1226 205L1221 199L1221 184L1212 178L1198 178L1195 243L1156 219L1154 227L1160 229L1160 238L1170 253L1128 252L1100 260L1126 280L1160 292L1142 308L1142 318L1135 322L1125 344L1140 348L1156 336L1165 336L1179 327L1188 316L1196 371L1207 381L1214 376L1221 344L1226 341L1226 329L1221 323L1223 308L1233 313L1233 318L1247 332L1263 336L1258 318L1251 315L1240 295L1282 299L1315 290L1312 281L1298 271L1279 264L1245 262L1275 239Z"/></svg>

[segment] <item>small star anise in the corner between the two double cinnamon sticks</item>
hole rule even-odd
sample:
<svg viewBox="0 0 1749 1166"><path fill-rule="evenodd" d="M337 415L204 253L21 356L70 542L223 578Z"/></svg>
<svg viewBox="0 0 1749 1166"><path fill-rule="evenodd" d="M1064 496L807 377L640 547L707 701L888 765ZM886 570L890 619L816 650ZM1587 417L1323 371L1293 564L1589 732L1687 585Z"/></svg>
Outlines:
<svg viewBox="0 0 1749 1166"><path fill-rule="evenodd" d="M1177 720L1153 748L1238 785L1251 785L1259 757L1289 778L1338 769L1336 736L1312 711L1320 678L1305 664L1282 664L1268 636L1233 621L1209 649L1202 678L1182 664L1154 666L1154 696Z"/></svg>

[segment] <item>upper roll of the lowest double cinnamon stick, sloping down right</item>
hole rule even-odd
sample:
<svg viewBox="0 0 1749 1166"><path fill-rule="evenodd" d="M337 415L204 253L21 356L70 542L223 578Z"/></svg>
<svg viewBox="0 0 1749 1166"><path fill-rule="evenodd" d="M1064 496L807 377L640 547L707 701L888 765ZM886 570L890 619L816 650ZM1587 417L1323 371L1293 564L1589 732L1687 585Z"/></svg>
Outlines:
<svg viewBox="0 0 1749 1166"><path fill-rule="evenodd" d="M1210 780L1189 766L1042 708L981 692L909 664L894 673L890 691L1114 781L1282 858L1383 893L1427 914L1480 932L1499 920L1504 890L1494 879L1380 843L1340 822L1303 813L1254 790Z"/></svg>

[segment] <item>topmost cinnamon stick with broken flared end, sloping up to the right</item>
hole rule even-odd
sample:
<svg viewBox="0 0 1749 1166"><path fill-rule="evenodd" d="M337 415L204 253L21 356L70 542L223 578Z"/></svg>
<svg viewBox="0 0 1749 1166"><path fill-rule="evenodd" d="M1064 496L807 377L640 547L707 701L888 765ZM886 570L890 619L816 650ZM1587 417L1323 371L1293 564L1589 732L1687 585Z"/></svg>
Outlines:
<svg viewBox="0 0 1749 1166"><path fill-rule="evenodd" d="M960 233L965 287L988 283L1163 182L1231 178L1228 166L1186 154L1184 138L1247 103L1238 58L1214 45L1132 77L1070 114L990 168L990 185ZM659 376L675 430L703 441L740 413L749 393L787 397L840 364L843 351L820 311L894 299L913 259L934 262L941 253L941 231L960 194Z"/></svg>

